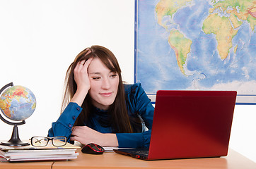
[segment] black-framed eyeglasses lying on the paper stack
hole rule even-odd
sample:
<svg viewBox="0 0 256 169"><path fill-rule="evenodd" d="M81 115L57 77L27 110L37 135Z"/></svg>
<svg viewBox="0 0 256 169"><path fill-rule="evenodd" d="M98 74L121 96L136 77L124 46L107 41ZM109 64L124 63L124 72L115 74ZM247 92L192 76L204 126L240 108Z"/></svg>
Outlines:
<svg viewBox="0 0 256 169"><path fill-rule="evenodd" d="M31 137L31 145L33 146L47 146L48 142L52 140L53 146L64 146L66 145L66 137Z"/></svg>

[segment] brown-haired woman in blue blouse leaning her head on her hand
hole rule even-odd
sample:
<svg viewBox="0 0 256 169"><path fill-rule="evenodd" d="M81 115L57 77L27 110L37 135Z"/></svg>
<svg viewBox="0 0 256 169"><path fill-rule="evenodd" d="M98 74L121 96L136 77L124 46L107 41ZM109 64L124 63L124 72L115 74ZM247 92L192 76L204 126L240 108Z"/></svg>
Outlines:
<svg viewBox="0 0 256 169"><path fill-rule="evenodd" d="M84 49L69 66L62 110L49 137L101 146L149 146L151 101L141 84L123 84L117 59L103 46Z"/></svg>

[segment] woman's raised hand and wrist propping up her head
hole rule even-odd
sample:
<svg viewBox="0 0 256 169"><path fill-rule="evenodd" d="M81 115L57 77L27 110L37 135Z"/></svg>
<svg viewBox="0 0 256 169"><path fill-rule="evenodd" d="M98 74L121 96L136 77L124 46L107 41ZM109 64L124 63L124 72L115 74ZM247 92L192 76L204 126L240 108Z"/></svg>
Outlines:
<svg viewBox="0 0 256 169"><path fill-rule="evenodd" d="M71 102L75 102L79 106L83 104L83 100L86 98L86 95L91 88L87 70L92 60L93 58L88 58L87 61L80 61L77 63L76 68L74 68L74 80L76 82L77 89L71 99Z"/></svg>

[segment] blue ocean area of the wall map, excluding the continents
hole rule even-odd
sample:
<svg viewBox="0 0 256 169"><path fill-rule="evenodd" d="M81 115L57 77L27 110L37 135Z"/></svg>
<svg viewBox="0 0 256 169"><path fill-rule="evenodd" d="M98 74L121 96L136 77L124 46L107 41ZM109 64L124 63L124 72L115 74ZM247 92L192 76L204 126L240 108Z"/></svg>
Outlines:
<svg viewBox="0 0 256 169"><path fill-rule="evenodd" d="M136 82L141 82L147 93L156 93L158 89L220 89L256 94L256 27L252 30L243 20L233 37L228 57L222 60L216 35L206 35L202 30L209 8L213 8L211 1L194 0L178 9L172 18L165 16L163 22L167 29L157 23L157 3L138 1L137 4ZM219 15L228 14L220 11ZM185 75L168 44L172 29L192 41Z"/></svg>

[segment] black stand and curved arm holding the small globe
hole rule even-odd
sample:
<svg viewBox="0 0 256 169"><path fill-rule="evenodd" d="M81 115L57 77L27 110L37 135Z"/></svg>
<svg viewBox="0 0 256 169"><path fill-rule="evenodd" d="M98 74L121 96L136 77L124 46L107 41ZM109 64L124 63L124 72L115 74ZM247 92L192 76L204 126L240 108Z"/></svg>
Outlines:
<svg viewBox="0 0 256 169"><path fill-rule="evenodd" d="M13 86L13 83L11 82L9 84L6 84L4 87L2 87L0 89L0 94L1 94L1 92L4 91L4 89L6 89L9 86ZM0 118L1 118L1 120L4 121L4 123L7 123L8 125L14 125L13 133L11 134L11 139L9 139L8 142L1 142L0 145L4 145L4 146L28 146L28 145L30 145L28 142L22 142L20 137L18 136L18 125L25 124L25 120L23 120L20 123L13 123L13 122L10 122L10 121L6 120L5 118L3 118L1 113L0 113Z"/></svg>

